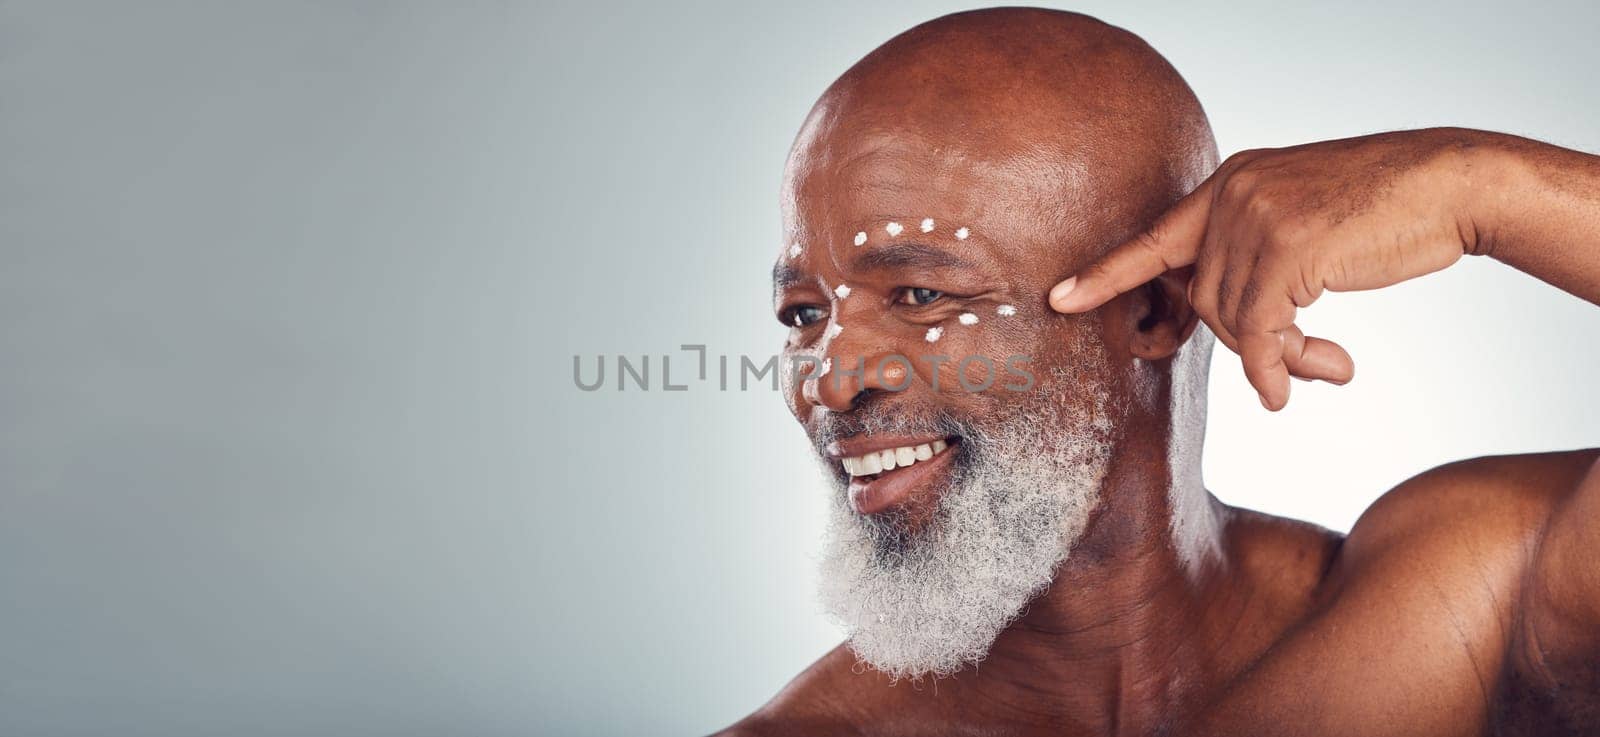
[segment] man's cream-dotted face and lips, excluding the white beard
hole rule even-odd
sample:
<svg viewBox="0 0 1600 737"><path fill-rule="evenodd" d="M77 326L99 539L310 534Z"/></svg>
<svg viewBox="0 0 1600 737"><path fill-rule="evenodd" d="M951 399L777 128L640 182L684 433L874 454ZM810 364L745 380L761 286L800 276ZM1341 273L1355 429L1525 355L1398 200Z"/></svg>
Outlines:
<svg viewBox="0 0 1600 737"><path fill-rule="evenodd" d="M907 136L794 157L774 304L790 328L784 365L806 380L786 385L786 398L856 512L915 532L938 508L950 459L872 472L869 456L962 443L949 427L869 433L874 416L994 422L1040 396L1074 416L1101 412L1102 398L1077 385L1115 369L1104 350L1086 350L1101 344L1098 317L1061 317L1045 302L1074 256L1104 238L1083 203L1062 200L1072 179L1069 166L966 158ZM806 374L794 357L824 369Z"/></svg>

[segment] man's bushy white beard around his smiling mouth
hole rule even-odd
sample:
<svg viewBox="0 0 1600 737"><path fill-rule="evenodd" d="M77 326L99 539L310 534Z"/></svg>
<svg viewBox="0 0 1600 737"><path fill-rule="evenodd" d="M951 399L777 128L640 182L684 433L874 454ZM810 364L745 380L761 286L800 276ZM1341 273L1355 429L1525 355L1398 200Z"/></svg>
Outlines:
<svg viewBox="0 0 1600 737"><path fill-rule="evenodd" d="M1074 384L1099 400L1093 419L1045 401L997 427L960 424L950 486L914 537L830 494L821 598L859 660L893 679L952 675L982 660L1050 585L1083 536L1110 460L1106 393L1082 376ZM866 420L870 430L909 425Z"/></svg>

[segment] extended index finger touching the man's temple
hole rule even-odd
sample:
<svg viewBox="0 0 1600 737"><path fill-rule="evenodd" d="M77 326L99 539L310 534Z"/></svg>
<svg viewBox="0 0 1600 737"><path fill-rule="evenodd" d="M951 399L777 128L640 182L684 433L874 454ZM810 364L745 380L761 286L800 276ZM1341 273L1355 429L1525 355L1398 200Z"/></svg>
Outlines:
<svg viewBox="0 0 1600 737"><path fill-rule="evenodd" d="M1109 302L1178 267L1194 264L1211 211L1211 181L1206 179L1178 205L1157 217L1149 230L1112 246L1078 273L1050 289L1056 312L1085 312Z"/></svg>

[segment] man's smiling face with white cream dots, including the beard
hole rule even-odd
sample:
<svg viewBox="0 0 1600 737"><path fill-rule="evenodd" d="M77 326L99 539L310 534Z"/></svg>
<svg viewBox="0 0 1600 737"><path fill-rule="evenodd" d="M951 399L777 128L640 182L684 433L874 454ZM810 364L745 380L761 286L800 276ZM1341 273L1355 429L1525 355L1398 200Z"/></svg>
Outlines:
<svg viewBox="0 0 1600 737"><path fill-rule="evenodd" d="M826 368L786 385L837 483L824 600L878 670L949 673L1048 585L1094 505L1117 366L1098 317L1045 296L1104 225L1061 200L1070 166L1026 152L808 134L774 301L786 365Z"/></svg>

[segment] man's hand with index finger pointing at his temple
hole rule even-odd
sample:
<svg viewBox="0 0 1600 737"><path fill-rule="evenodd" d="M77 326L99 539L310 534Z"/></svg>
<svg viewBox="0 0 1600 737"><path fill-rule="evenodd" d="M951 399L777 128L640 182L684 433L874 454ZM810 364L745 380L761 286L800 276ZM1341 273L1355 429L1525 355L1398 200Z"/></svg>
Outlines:
<svg viewBox="0 0 1600 737"><path fill-rule="evenodd" d="M1091 310L1192 265L1189 302L1240 355L1261 403L1282 409L1290 376L1355 374L1339 344L1301 333L1296 310L1325 289L1376 289L1474 253L1483 214L1474 219L1470 195L1486 176L1477 136L1405 131L1237 153L1147 232L1058 283L1050 304Z"/></svg>

